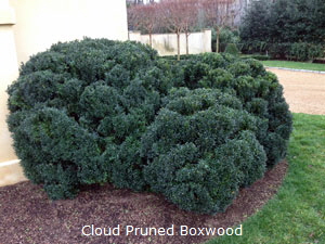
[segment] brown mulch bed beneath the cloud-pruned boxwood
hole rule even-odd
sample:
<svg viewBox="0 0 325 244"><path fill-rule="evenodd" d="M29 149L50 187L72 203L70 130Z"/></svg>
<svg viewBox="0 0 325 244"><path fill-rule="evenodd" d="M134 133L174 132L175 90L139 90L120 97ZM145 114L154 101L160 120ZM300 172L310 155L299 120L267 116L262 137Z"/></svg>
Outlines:
<svg viewBox="0 0 325 244"><path fill-rule="evenodd" d="M216 216L180 210L161 195L115 189L112 184L89 188L75 200L54 202L47 197L39 185L29 181L3 187L0 188L0 243L202 243L211 236L180 235L180 226L227 228L239 224L276 193L287 168L285 160L280 163L264 178L240 190L226 211ZM120 233L82 235L82 228L91 224L102 230L105 228L106 231L119 224ZM172 235L126 235L127 226L173 227L174 232ZM90 228L84 230L87 234L90 233Z"/></svg>

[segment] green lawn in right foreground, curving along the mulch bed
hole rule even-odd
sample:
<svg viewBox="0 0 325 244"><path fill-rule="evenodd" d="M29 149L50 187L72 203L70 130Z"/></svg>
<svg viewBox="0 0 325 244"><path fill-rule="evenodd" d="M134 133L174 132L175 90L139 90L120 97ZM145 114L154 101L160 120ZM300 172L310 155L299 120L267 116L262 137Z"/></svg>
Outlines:
<svg viewBox="0 0 325 244"><path fill-rule="evenodd" d="M284 184L243 223L243 235L208 244L325 243L325 116L294 114L287 159Z"/></svg>

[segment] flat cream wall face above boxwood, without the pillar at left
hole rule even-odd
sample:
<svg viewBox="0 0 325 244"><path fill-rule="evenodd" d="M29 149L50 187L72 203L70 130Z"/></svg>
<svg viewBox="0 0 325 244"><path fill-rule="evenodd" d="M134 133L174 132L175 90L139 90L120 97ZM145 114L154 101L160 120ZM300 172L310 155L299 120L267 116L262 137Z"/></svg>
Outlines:
<svg viewBox="0 0 325 244"><path fill-rule="evenodd" d="M1 0L2 1L2 0ZM91 38L128 39L123 0L10 0L18 62L57 41Z"/></svg>

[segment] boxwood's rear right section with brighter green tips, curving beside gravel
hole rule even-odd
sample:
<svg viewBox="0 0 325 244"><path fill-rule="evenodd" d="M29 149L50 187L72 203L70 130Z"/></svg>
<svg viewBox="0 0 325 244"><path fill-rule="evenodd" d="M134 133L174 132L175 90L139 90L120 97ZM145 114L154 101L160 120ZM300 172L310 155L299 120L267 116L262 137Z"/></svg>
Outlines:
<svg viewBox="0 0 325 244"><path fill-rule="evenodd" d="M195 63L196 62L196 63ZM260 118L257 138L265 147L268 166L272 167L285 156L288 137L291 132L291 114L283 98L283 88L276 77L266 73L256 60L244 61L233 55L202 54L194 61L183 61L185 84L190 88L214 88L237 97L246 111ZM210 68L195 75L197 63ZM202 64L200 64L202 65ZM191 79L186 80L187 77ZM265 130L268 132L265 132ZM276 140L280 143L276 143Z"/></svg>

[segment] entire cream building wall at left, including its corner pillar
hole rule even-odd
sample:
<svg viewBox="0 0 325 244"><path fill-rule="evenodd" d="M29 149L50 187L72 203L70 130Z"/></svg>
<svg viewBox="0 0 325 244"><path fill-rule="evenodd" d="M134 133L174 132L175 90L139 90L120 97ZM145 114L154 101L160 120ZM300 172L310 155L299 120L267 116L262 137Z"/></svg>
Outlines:
<svg viewBox="0 0 325 244"><path fill-rule="evenodd" d="M0 187L24 179L5 123L5 90L18 64L52 43L83 37L127 40L126 1L0 0Z"/></svg>

